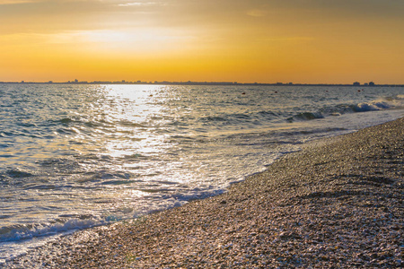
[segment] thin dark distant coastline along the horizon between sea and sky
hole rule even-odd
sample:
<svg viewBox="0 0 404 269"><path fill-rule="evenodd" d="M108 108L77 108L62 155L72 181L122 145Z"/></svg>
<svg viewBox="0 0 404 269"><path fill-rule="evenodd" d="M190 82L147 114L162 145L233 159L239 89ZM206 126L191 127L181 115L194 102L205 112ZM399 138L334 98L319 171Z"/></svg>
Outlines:
<svg viewBox="0 0 404 269"><path fill-rule="evenodd" d="M404 87L404 84L328 84L328 83L239 83L239 82L0 82L0 84L67 84L67 85L193 85L193 86L327 86L327 87Z"/></svg>

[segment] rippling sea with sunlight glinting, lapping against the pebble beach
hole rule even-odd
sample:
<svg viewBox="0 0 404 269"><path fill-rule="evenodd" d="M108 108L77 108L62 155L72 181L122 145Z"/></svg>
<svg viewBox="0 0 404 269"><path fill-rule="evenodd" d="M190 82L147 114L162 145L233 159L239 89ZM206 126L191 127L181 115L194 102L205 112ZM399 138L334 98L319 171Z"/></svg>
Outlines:
<svg viewBox="0 0 404 269"><path fill-rule="evenodd" d="M0 84L0 265L403 115L402 87Z"/></svg>

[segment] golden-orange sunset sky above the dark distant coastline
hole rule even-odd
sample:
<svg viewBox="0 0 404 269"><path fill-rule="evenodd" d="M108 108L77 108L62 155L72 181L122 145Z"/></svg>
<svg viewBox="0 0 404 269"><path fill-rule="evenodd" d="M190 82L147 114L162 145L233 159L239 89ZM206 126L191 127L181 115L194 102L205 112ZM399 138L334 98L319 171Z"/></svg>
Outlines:
<svg viewBox="0 0 404 269"><path fill-rule="evenodd" d="M403 0L0 0L0 82L404 84Z"/></svg>

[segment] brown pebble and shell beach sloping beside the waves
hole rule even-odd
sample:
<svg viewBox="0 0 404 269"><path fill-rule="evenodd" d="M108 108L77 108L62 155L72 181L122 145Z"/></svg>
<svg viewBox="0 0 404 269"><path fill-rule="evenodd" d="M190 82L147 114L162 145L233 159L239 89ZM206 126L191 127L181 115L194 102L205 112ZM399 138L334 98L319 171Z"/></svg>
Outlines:
<svg viewBox="0 0 404 269"><path fill-rule="evenodd" d="M400 267L404 118L312 141L228 192L80 230L5 268Z"/></svg>

